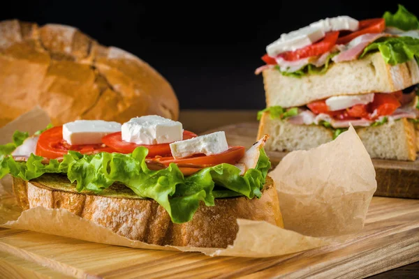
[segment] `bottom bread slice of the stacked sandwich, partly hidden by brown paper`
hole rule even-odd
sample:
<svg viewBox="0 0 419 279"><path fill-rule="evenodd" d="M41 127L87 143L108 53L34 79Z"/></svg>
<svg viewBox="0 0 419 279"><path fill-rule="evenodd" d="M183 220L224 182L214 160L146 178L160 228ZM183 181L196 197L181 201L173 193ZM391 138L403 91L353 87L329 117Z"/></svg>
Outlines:
<svg viewBox="0 0 419 279"><path fill-rule="evenodd" d="M407 119L355 130L372 158L416 160L416 131ZM331 129L294 125L286 120L271 119L269 113L260 119L258 138L265 134L270 135L265 145L267 151L307 150L333 140Z"/></svg>

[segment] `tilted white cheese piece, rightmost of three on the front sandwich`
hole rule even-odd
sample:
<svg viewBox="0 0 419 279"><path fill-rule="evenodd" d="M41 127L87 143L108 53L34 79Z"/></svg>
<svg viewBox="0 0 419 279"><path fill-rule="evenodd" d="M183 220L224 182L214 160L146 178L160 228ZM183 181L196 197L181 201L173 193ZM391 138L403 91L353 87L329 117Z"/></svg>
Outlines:
<svg viewBox="0 0 419 279"><path fill-rule="evenodd" d="M188 157L193 154L214 155L222 153L227 149L228 144L226 133L224 132L201 135L170 144L170 150L175 159Z"/></svg>

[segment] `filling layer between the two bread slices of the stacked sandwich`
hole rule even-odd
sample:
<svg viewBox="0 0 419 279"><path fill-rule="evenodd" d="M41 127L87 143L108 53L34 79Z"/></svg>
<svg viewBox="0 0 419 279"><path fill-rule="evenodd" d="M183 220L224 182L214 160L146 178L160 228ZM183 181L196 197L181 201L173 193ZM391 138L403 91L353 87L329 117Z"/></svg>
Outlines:
<svg viewBox="0 0 419 279"><path fill-rule="evenodd" d="M294 125L321 125L335 130L335 137L352 126L379 126L406 118L419 122L418 84L392 93L367 93L333 96L302 107L267 107L272 119L283 119Z"/></svg>

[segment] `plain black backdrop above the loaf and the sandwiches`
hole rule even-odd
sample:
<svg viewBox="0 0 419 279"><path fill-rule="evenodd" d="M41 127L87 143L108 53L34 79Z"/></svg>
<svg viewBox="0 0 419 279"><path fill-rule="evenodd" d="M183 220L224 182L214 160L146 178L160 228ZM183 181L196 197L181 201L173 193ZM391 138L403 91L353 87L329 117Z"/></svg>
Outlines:
<svg viewBox="0 0 419 279"><path fill-rule="evenodd" d="M419 1L404 1L419 15ZM388 1L7 1L0 20L78 27L147 61L172 84L181 109L261 109L265 47L325 17L393 13Z"/></svg>

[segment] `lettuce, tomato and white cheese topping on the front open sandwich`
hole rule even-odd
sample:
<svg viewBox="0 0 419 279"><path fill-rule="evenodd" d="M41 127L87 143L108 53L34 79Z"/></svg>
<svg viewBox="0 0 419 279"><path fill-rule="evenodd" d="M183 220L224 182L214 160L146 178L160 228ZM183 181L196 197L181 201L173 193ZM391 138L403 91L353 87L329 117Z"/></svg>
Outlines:
<svg viewBox="0 0 419 279"><path fill-rule="evenodd" d="M79 192L98 195L122 183L138 197L158 202L173 223L185 223L200 204L214 206L216 198L261 197L271 165L266 140L267 135L246 151L229 146L223 132L198 136L160 116L122 125L74 121L32 136L16 131L13 142L0 146L0 179L57 174Z"/></svg>

